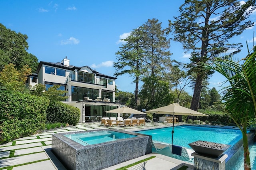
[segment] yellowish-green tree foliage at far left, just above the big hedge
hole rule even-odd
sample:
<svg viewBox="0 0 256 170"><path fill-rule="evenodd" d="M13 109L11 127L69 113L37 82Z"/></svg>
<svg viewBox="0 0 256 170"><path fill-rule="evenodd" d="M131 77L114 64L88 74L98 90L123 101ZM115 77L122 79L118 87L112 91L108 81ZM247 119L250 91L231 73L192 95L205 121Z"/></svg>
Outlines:
<svg viewBox="0 0 256 170"><path fill-rule="evenodd" d="M4 66L0 72L0 85L6 87L10 91L26 91L26 79L31 74L28 65L24 65L18 71L15 65L10 63Z"/></svg>

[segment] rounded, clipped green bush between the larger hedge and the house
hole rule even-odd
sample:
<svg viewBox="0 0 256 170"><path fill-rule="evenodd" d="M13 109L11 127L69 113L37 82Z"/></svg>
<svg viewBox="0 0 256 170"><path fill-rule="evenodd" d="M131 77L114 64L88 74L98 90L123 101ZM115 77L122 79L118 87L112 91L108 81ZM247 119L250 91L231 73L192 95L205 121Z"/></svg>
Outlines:
<svg viewBox="0 0 256 170"><path fill-rule="evenodd" d="M62 102L54 102L49 105L47 110L48 123L68 123L77 125L80 118L80 110L76 107L67 105Z"/></svg>

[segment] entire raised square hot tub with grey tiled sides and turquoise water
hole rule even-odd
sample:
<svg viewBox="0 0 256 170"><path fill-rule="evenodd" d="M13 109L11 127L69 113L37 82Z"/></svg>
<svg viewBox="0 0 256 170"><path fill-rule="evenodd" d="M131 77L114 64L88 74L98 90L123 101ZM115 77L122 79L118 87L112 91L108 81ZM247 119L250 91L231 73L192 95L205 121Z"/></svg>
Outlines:
<svg viewBox="0 0 256 170"><path fill-rule="evenodd" d="M123 130L52 134L52 152L72 170L101 170L149 154L151 149L151 136Z"/></svg>

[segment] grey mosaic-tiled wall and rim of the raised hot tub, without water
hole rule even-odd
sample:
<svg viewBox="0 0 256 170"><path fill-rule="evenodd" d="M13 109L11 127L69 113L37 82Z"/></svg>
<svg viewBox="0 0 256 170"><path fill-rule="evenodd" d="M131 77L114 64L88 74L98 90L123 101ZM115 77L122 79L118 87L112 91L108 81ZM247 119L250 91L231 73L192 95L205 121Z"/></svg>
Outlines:
<svg viewBox="0 0 256 170"><path fill-rule="evenodd" d="M84 132L92 131L102 130ZM75 133L79 132L52 134L52 151L66 168L72 170L101 170L152 152L152 138L148 135L125 132L138 137L83 146L64 136Z"/></svg>

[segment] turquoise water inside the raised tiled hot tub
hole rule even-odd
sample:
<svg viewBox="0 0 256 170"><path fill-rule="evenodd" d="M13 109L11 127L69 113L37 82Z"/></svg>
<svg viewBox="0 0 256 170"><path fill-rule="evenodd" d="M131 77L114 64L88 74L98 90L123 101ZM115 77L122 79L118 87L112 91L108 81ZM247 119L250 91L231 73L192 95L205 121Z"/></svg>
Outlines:
<svg viewBox="0 0 256 170"><path fill-rule="evenodd" d="M136 137L136 135L114 132L114 131L102 131L102 132L97 131L97 132L90 132L90 133L84 132L84 133L78 133L78 134L66 134L64 136L82 144L83 146Z"/></svg>

